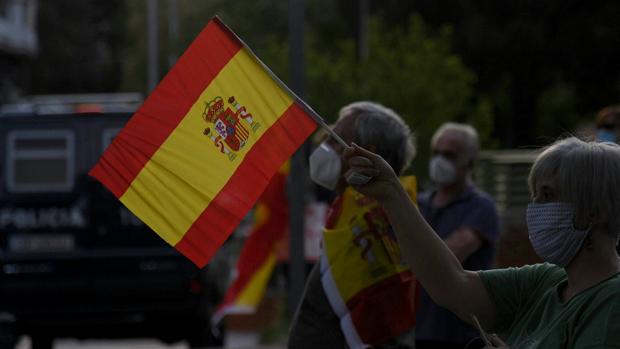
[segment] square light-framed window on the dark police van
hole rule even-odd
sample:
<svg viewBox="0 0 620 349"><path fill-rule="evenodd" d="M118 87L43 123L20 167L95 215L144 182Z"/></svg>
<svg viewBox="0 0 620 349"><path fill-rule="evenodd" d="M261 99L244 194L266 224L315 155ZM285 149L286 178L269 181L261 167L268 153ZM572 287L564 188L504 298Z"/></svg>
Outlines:
<svg viewBox="0 0 620 349"><path fill-rule="evenodd" d="M15 130L8 134L6 149L6 188L9 192L62 192L73 189L73 132Z"/></svg>

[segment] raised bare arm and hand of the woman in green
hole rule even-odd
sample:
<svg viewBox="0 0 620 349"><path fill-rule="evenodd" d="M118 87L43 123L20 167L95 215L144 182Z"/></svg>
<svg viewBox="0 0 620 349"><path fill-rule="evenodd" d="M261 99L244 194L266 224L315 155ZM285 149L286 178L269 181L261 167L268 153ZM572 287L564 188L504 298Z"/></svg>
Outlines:
<svg viewBox="0 0 620 349"><path fill-rule="evenodd" d="M354 171L372 177L355 189L383 205L405 261L433 300L466 322L472 323L474 314L483 326L492 327L493 303L480 277L462 268L409 199L390 165L357 145L346 149L344 157L349 165L346 175Z"/></svg>

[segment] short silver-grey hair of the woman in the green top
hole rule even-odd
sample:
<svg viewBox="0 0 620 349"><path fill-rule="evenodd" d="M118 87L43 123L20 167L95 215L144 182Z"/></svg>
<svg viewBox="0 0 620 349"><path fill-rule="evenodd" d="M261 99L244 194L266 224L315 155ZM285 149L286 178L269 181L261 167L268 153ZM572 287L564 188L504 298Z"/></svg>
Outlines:
<svg viewBox="0 0 620 349"><path fill-rule="evenodd" d="M577 228L597 217L607 232L620 232L620 146L584 142L575 137L556 141L536 159L528 185L536 195L536 181L549 179L557 186L559 199L573 206Z"/></svg>

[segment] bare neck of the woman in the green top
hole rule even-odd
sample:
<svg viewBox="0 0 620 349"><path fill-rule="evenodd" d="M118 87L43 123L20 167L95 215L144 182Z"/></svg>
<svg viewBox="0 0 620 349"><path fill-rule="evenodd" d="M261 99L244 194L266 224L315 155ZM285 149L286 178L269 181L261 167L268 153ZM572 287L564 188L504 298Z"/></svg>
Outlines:
<svg viewBox="0 0 620 349"><path fill-rule="evenodd" d="M582 247L565 270L568 283L562 290L564 302L620 272L620 257L609 239L601 237L593 239L591 246Z"/></svg>

